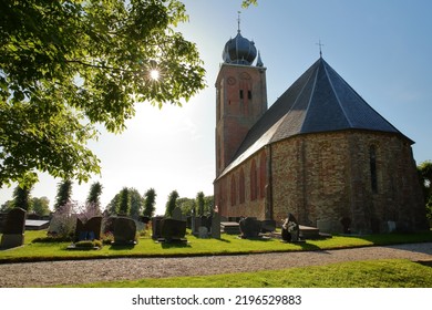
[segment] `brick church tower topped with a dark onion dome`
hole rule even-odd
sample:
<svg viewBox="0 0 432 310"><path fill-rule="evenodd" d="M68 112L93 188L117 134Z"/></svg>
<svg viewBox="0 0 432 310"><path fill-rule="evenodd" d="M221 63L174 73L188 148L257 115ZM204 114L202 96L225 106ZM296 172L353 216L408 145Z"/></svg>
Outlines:
<svg viewBox="0 0 432 310"><path fill-rule="evenodd" d="M215 84L216 177L267 111L266 68L254 41L241 37L239 28L237 35L225 44L223 60Z"/></svg>

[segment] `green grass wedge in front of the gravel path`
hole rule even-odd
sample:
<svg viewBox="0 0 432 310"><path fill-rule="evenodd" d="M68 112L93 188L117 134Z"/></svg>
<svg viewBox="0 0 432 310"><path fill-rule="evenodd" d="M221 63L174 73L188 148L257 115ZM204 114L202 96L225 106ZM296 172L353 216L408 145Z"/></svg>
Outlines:
<svg viewBox="0 0 432 310"><path fill-rule="evenodd" d="M432 266L403 259L277 271L99 282L83 288L432 288Z"/></svg>

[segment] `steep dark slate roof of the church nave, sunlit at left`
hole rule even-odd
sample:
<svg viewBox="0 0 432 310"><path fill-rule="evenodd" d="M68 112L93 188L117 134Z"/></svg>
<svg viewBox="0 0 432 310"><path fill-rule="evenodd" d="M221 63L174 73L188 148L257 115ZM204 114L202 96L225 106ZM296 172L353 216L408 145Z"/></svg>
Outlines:
<svg viewBox="0 0 432 310"><path fill-rule="evenodd" d="M299 134L343 130L402 135L320 58L250 128L219 177L268 144Z"/></svg>

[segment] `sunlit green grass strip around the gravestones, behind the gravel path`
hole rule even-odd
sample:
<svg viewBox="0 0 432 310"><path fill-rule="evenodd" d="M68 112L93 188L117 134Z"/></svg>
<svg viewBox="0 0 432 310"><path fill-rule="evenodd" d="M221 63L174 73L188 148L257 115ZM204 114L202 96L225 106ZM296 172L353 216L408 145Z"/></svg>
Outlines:
<svg viewBox="0 0 432 310"><path fill-rule="evenodd" d="M239 239L237 236L225 234L220 240L198 239L193 235L187 235L188 242L186 245L157 244L150 236L143 236L135 246L104 246L100 250L68 250L66 248L70 246L70 242L32 242L35 238L44 237L45 235L45 230L25 231L24 246L9 250L0 250L0 264L80 258L178 257L275 252L432 241L432 231L425 231L416 234L369 235L362 237L333 236L328 239L307 240L304 244L284 244L278 239Z"/></svg>

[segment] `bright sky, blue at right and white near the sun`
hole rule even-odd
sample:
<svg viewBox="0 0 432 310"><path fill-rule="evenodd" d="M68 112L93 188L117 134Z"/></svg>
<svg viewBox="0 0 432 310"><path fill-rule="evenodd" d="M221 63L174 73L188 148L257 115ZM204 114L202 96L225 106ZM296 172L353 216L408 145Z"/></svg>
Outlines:
<svg viewBox="0 0 432 310"><path fill-rule="evenodd" d="M259 0L258 0L259 1ZM189 22L178 30L195 42L205 62L207 87L183 107L136 106L121 135L102 132L90 147L102 161L102 177L74 184L84 202L92 182L104 186L105 206L122 187L153 187L157 211L167 195L213 195L215 87L222 50L237 33L255 41L267 68L269 105L318 58L323 59L382 116L415 142L416 163L432 159L432 1L429 0L186 0ZM54 202L59 179L41 175L32 195ZM12 188L0 189L0 204Z"/></svg>

